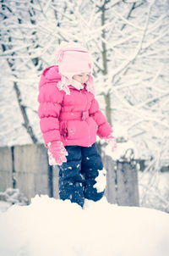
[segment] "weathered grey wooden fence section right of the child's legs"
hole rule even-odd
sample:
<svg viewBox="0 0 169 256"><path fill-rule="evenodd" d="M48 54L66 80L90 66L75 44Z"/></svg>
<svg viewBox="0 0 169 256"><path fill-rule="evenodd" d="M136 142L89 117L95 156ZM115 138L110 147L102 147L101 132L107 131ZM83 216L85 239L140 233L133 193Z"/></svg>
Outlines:
<svg viewBox="0 0 169 256"><path fill-rule="evenodd" d="M139 184L137 161L113 161L102 152L106 169L106 198L109 203L122 206L139 206Z"/></svg>

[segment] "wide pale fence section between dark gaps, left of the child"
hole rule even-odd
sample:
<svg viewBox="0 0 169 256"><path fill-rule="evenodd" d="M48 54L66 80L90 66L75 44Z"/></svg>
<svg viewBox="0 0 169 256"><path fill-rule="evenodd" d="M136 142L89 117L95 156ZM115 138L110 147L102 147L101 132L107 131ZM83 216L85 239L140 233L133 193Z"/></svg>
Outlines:
<svg viewBox="0 0 169 256"><path fill-rule="evenodd" d="M35 194L50 195L46 148L40 144L14 147L16 187L30 200Z"/></svg>

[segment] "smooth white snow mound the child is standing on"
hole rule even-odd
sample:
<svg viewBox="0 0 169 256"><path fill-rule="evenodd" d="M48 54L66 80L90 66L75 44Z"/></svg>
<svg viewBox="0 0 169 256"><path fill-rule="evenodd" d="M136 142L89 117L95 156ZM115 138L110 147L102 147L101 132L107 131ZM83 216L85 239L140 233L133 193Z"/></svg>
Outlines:
<svg viewBox="0 0 169 256"><path fill-rule="evenodd" d="M169 214L36 196L0 214L1 256L168 256Z"/></svg>

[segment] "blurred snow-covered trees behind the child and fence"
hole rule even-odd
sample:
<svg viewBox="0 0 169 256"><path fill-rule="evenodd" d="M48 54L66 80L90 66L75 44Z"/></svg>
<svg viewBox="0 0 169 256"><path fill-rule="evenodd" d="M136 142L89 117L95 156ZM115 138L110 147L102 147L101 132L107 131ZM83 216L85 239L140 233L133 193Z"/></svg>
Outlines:
<svg viewBox="0 0 169 256"><path fill-rule="evenodd" d="M143 160L140 205L169 212L169 1L0 5L0 147L42 142L41 71L56 64L60 42L79 42L92 54L96 98L117 135L118 158L132 147Z"/></svg>

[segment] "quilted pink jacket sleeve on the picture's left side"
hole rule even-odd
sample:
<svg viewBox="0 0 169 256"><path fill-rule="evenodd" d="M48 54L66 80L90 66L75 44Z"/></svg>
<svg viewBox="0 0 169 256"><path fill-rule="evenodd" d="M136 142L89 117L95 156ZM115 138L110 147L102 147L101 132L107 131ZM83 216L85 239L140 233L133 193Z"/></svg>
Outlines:
<svg viewBox="0 0 169 256"><path fill-rule="evenodd" d="M56 81L46 82L40 87L38 102L40 103L38 109L41 119L40 127L47 147L48 142L61 140L58 117L63 102L63 93L58 90Z"/></svg>

